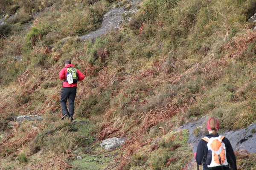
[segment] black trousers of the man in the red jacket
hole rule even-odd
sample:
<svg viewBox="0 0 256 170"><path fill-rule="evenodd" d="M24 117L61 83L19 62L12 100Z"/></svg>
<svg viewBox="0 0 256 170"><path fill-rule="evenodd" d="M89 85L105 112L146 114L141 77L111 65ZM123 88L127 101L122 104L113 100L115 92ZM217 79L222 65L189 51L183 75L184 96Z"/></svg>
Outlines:
<svg viewBox="0 0 256 170"><path fill-rule="evenodd" d="M67 110L67 99L69 104L69 110ZM76 99L76 87L72 88L62 88L61 91L61 108L62 108L62 115L68 114L70 117L74 115L74 101Z"/></svg>

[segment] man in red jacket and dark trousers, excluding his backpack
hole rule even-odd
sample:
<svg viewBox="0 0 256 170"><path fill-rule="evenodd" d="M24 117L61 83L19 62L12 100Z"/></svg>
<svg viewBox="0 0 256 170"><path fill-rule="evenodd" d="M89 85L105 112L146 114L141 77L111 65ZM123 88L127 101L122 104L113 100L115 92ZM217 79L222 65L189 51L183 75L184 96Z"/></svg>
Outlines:
<svg viewBox="0 0 256 170"><path fill-rule="evenodd" d="M77 83L73 82L69 84L67 81L67 72L69 68L74 68L75 66L71 64L69 60L65 61L65 67L61 69L59 72L59 78L64 80L62 83L62 91L61 91L61 108L62 108L62 118L64 120L65 117L68 116L71 121L73 120L74 116L74 101L76 98L76 88ZM78 69L75 69L77 73L77 80L82 81L84 79L84 74L81 73ZM67 110L67 99L69 103L69 111Z"/></svg>

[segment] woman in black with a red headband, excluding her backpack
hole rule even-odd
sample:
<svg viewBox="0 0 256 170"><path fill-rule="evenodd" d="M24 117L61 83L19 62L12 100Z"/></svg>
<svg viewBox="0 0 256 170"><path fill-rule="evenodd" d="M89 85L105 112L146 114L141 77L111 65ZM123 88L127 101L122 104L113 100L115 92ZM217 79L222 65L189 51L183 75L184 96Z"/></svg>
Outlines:
<svg viewBox="0 0 256 170"><path fill-rule="evenodd" d="M207 129L209 131L209 134L206 135L207 138L212 137L218 137L218 129L219 129L219 121L215 118L210 118L207 122ZM236 167L236 156L234 154L233 148L230 144L230 141L224 137L222 139L222 142L224 142L226 147L226 153L227 153L227 162L229 165L226 166L219 166L214 167L214 170L237 170ZM206 160L207 160L207 154L208 153L208 147L207 142L203 139L201 139L198 143L197 152L195 153L195 160L197 164L201 165L203 164L203 170L211 170L209 167L207 167Z"/></svg>

